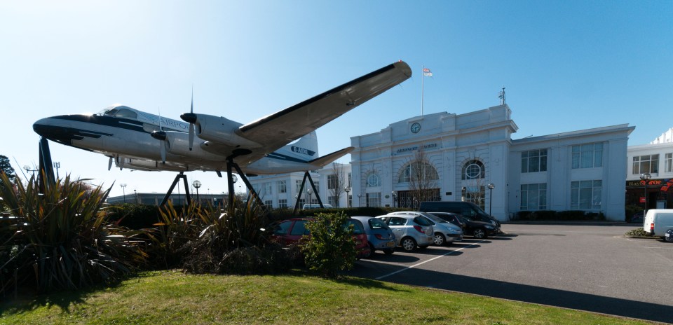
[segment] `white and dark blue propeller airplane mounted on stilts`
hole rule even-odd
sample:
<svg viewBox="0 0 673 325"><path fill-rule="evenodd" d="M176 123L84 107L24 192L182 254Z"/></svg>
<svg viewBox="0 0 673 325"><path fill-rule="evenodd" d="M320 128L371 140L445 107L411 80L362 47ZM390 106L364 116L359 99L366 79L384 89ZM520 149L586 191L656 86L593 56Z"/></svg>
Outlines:
<svg viewBox="0 0 673 325"><path fill-rule="evenodd" d="M192 97L182 121L117 104L96 114L42 118L33 130L45 139L106 155L108 170L112 163L181 175L203 170L222 176L226 170L233 193L232 166L239 176L304 172L350 153L353 147L318 156L315 130L411 76L409 65L400 60L245 125L194 113Z"/></svg>

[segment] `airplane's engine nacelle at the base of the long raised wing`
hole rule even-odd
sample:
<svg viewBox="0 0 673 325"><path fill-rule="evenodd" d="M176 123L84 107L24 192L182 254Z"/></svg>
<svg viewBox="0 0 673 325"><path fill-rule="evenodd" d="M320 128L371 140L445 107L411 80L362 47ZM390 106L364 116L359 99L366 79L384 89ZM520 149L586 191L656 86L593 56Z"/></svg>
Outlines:
<svg viewBox="0 0 673 325"><path fill-rule="evenodd" d="M259 144L237 134L241 123L234 122L221 116L205 114L196 115L196 135L206 141L214 141L232 147L256 148Z"/></svg>

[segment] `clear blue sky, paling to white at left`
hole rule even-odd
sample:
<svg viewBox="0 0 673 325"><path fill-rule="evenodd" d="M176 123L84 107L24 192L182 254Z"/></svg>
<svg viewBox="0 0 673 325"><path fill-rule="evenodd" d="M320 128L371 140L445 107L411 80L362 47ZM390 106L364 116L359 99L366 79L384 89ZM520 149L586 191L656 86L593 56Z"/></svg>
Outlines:
<svg viewBox="0 0 673 325"><path fill-rule="evenodd" d="M629 124L633 146L673 127L671 0L1 1L0 155L22 177L48 116L125 104L179 120L193 87L195 112L245 124L398 60L412 78L320 127L321 155L421 115L421 67L425 114L496 106L505 87L512 139ZM61 177L112 196L175 177L50 148ZM226 191L214 172L186 174Z"/></svg>

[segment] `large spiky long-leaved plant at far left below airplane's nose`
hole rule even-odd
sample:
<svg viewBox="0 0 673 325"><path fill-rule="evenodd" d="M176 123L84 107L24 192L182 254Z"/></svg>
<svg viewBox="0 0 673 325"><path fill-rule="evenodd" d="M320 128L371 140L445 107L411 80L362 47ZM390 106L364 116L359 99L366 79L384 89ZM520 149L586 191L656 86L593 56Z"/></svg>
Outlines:
<svg viewBox="0 0 673 325"><path fill-rule="evenodd" d="M2 184L9 184L6 174ZM46 184L36 179L0 186L5 209L15 216L0 227L0 293L17 286L39 292L79 289L113 282L144 261L137 231L107 223L102 211L109 194L69 176Z"/></svg>

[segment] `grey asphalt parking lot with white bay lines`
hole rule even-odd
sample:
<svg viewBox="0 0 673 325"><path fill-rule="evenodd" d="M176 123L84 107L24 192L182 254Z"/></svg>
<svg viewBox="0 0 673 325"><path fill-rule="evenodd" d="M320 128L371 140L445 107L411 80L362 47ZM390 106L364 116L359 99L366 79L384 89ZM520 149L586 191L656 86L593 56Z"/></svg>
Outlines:
<svg viewBox="0 0 673 325"><path fill-rule="evenodd" d="M450 247L377 252L351 275L673 322L673 244L624 237L637 224L505 224Z"/></svg>

